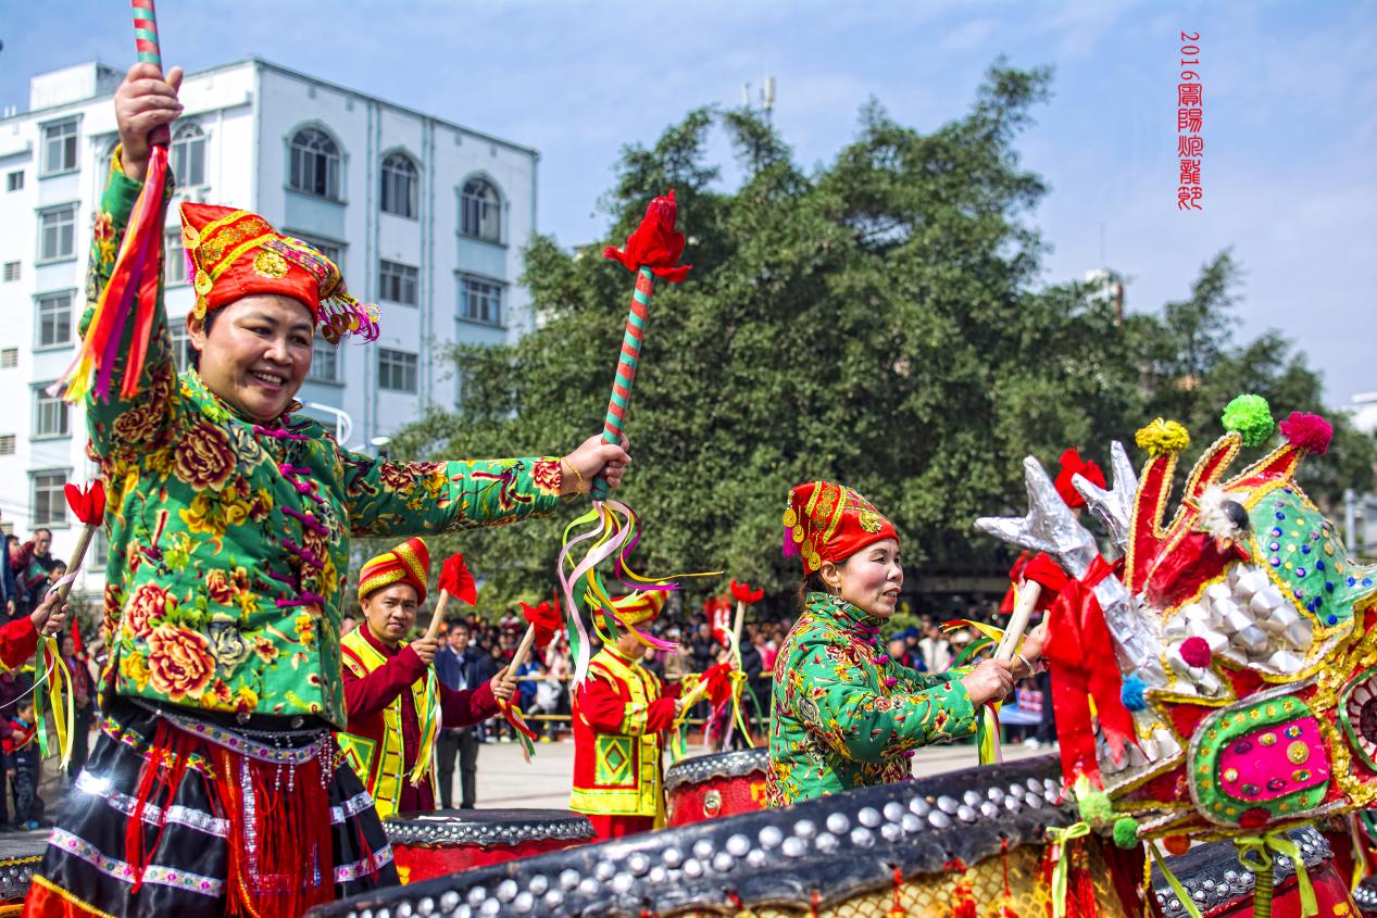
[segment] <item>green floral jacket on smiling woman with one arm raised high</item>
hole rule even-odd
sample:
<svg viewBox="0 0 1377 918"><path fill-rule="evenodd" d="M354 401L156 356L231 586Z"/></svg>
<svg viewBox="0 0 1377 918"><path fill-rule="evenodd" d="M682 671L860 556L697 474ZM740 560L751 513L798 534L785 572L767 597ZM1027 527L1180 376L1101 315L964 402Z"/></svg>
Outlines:
<svg viewBox="0 0 1377 918"><path fill-rule="evenodd" d="M112 172L83 333L139 187L118 165ZM319 714L343 729L350 537L507 523L559 504L558 460L387 462L341 449L292 413L299 405L264 425L240 417L194 370L176 374L161 289L140 392L128 401L124 369L109 402L85 405L109 491L105 684L118 695Z"/></svg>

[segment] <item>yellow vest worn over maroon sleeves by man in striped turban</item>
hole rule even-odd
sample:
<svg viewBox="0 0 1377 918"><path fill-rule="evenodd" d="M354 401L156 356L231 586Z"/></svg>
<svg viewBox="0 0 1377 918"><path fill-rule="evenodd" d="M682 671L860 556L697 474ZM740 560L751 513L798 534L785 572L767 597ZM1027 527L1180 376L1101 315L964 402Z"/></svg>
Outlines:
<svg viewBox="0 0 1377 918"><path fill-rule="evenodd" d="M388 659L364 637L364 628L366 625L355 628L340 641L340 648L344 651L340 654L340 659L359 679L386 665ZM402 641L401 647L406 647L406 641ZM430 723L432 724L439 716L439 688L435 681L434 669L427 669L423 679L412 683L412 701L416 705L416 718L421 728L420 753L425 757L424 761L419 760L419 764L424 769L421 776L431 782L431 791L435 794L438 791L435 769L431 768L427 749L434 745L434 729L430 731L431 743L427 743L425 729L427 712L430 712ZM354 773L358 775L358 779L364 782L364 787L373 797L373 802L377 807L377 818L387 819L397 812L397 807L402 800L402 782L410 779L405 773L406 750L402 742L401 692L381 710L381 723L383 729L380 736L339 732L335 735L335 739L346 761L354 769Z"/></svg>

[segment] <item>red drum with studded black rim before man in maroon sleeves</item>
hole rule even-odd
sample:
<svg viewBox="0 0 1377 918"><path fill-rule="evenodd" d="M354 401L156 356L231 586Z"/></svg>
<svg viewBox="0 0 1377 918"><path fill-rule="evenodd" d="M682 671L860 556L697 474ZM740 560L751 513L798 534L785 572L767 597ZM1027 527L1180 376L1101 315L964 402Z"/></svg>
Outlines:
<svg viewBox="0 0 1377 918"><path fill-rule="evenodd" d="M383 823L403 884L500 864L593 841L593 824L567 809L441 809Z"/></svg>

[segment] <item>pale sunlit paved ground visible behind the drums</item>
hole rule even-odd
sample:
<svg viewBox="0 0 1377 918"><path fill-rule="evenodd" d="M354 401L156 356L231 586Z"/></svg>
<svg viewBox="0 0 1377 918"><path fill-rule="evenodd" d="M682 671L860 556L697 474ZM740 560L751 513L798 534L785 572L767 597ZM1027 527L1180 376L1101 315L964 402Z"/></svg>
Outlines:
<svg viewBox="0 0 1377 918"><path fill-rule="evenodd" d="M691 746L690 753L697 756L701 750ZM1040 754L1044 753L1019 745L1004 747L1005 758ZM913 757L913 773L920 778L972 765L975 746L932 746ZM478 807L565 809L573 769L571 742L540 743L529 764L522 761L521 749L514 743L485 743L478 753Z"/></svg>

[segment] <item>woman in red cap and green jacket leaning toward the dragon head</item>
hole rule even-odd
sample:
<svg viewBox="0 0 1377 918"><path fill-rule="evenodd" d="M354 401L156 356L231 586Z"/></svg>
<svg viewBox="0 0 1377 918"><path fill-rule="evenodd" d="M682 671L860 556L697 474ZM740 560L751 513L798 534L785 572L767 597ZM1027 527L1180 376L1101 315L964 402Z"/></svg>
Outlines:
<svg viewBox="0 0 1377 918"><path fill-rule="evenodd" d="M975 734L976 712L1002 699L1041 655L925 674L894 662L880 625L903 586L899 537L861 494L799 484L784 513L785 555L800 555L799 619L775 658L770 723L771 805L903 780L918 746Z"/></svg>

